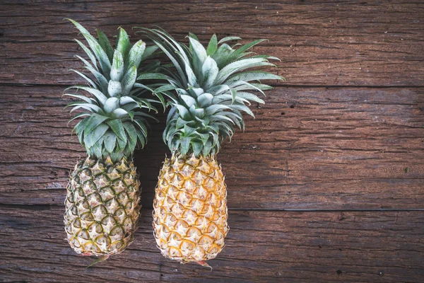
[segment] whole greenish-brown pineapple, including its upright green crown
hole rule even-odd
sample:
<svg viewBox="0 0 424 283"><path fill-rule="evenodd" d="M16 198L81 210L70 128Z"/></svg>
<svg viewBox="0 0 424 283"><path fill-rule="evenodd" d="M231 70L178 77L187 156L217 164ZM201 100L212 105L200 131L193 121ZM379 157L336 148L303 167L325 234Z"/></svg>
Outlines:
<svg viewBox="0 0 424 283"><path fill-rule="evenodd" d="M71 112L83 110L73 117L83 118L73 130L88 155L70 174L64 225L76 253L107 258L129 246L137 229L140 182L132 156L147 141L146 117L151 116L143 111L155 110L151 103L159 100L141 98L149 86L136 83L136 77L158 67L155 60L139 67L158 47L146 47L142 40L131 45L125 30L119 28L113 49L102 31L97 30L95 39L82 25L69 21L88 42L89 48L76 40L89 60L76 57L94 79L72 70L88 86L71 86L66 91L81 89L88 95L64 94L78 99L68 105Z"/></svg>

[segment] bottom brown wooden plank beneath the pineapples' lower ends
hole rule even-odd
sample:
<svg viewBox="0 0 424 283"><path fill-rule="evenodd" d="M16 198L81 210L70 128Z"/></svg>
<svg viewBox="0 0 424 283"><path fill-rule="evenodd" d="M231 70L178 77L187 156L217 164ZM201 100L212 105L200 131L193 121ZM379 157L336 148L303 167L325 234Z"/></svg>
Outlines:
<svg viewBox="0 0 424 283"><path fill-rule="evenodd" d="M213 267L180 265L155 247L151 210L136 241L86 269L64 241L64 207L1 207L4 282L422 282L423 212L230 212Z"/></svg>

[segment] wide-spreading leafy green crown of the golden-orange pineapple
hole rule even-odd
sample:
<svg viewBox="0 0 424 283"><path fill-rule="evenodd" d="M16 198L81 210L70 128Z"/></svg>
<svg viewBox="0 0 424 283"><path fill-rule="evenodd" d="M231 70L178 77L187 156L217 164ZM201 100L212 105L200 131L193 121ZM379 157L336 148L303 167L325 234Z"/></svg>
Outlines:
<svg viewBox="0 0 424 283"><path fill-rule="evenodd" d="M176 70L165 69L155 79L167 83L156 91L164 93L170 102L163 140L172 152L214 156L221 142L231 139L234 127L245 129L242 112L254 117L247 107L251 102L264 103L253 92L263 95L271 86L261 79L283 79L265 71L246 71L253 67L275 66L269 55L248 52L264 40L254 40L232 47L230 41L240 37L211 37L207 47L196 35L189 34L189 46L177 42L165 30L141 28L169 57ZM235 48L238 47L238 48ZM175 91L177 96L170 93Z"/></svg>

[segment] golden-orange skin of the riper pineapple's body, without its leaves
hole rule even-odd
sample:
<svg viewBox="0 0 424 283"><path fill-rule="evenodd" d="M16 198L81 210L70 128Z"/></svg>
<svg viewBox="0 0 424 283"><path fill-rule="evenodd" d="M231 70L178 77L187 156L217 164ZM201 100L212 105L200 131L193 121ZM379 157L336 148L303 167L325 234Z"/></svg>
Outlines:
<svg viewBox="0 0 424 283"><path fill-rule="evenodd" d="M220 253L228 233L224 179L215 158L165 159L153 202L153 233L165 257L204 262Z"/></svg>

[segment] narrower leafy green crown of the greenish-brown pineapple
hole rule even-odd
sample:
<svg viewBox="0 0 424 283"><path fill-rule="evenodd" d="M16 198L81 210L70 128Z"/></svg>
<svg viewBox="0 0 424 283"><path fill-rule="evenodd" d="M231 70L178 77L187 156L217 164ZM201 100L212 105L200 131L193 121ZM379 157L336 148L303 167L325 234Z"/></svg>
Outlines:
<svg viewBox="0 0 424 283"><path fill-rule="evenodd" d="M83 118L73 131L85 146L88 156L107 158L118 161L123 157L131 158L137 146L143 147L147 142L146 118L153 118L145 110L157 110L152 103L160 102L157 97L143 98L149 85L136 82L137 74L149 74L158 69L160 62L153 60L141 67L140 63L153 55L156 46L146 47L139 40L134 45L129 42L129 36L123 28L119 28L116 46L113 49L105 33L97 30L98 39L90 35L86 28L69 19L78 28L88 42L88 46L75 40L86 52L88 59L81 59L85 68L90 71L93 79L80 71L71 70L83 77L88 86L71 86L71 89L83 90L85 94L64 93L64 96L77 98L77 102L66 107L72 107L71 112L83 110L69 122ZM143 80L143 78L139 78ZM155 87L156 85L153 85ZM154 119L154 118L153 118Z"/></svg>

